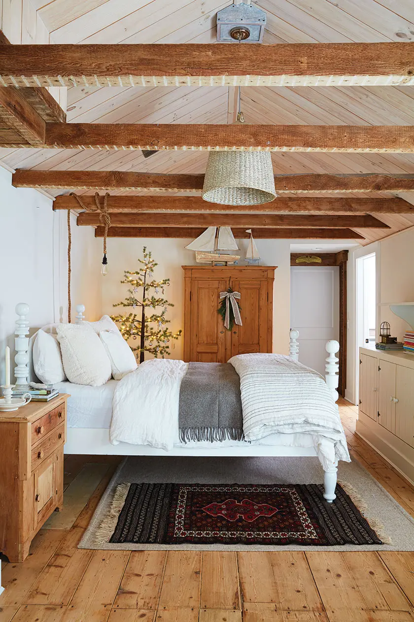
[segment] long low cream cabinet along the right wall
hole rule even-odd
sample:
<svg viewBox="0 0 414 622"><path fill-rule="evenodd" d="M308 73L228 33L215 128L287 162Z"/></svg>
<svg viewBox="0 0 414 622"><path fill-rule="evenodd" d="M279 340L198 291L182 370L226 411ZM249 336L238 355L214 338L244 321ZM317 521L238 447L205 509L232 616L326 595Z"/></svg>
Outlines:
<svg viewBox="0 0 414 622"><path fill-rule="evenodd" d="M360 348L356 432L414 481L414 356Z"/></svg>

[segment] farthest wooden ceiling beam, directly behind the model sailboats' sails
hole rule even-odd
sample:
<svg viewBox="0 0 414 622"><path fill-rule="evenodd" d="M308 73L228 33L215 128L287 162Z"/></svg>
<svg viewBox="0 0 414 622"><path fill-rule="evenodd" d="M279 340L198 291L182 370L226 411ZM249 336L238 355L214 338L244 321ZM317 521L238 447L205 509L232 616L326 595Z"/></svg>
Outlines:
<svg viewBox="0 0 414 622"><path fill-rule="evenodd" d="M178 227L110 227L109 238L197 238L203 228ZM235 238L249 238L244 229L233 229ZM351 229L253 229L257 239L364 239ZM104 236L104 227L95 230L95 237Z"/></svg>

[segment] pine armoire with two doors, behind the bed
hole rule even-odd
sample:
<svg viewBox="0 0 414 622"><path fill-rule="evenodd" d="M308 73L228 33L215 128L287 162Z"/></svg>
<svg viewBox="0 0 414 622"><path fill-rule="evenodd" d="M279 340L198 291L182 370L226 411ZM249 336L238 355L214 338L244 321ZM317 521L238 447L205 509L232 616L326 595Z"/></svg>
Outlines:
<svg viewBox="0 0 414 622"><path fill-rule="evenodd" d="M184 361L226 363L237 354L271 352L277 266L182 266ZM231 331L218 313L220 292L240 292L242 326Z"/></svg>

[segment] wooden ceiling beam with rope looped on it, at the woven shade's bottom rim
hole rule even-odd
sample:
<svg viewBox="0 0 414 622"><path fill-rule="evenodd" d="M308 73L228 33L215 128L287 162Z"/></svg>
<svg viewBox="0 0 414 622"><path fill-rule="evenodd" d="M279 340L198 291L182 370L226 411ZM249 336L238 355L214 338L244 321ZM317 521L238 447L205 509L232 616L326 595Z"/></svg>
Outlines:
<svg viewBox="0 0 414 622"><path fill-rule="evenodd" d="M95 208L95 199L89 195L82 195L86 207ZM101 199L102 200L102 199ZM53 202L55 210L79 210L76 198L70 195L59 195ZM219 205L209 203L201 197L160 197L160 196L119 196L109 197L108 210L110 212L129 211L195 211L218 213L278 213L278 212L307 212L307 213L384 213L408 214L414 213L414 205L402 198L325 198L325 197L277 197L271 203L263 205Z"/></svg>

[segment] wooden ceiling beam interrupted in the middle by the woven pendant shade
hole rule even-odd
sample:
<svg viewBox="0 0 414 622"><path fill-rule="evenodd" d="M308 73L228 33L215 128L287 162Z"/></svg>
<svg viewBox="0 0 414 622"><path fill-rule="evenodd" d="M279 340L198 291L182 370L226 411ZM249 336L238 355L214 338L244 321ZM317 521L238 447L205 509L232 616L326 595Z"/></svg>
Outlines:
<svg viewBox="0 0 414 622"><path fill-rule="evenodd" d="M97 190L202 190L204 175L138 173L123 170L17 169L16 188L79 188ZM277 193L407 192L414 175L275 175Z"/></svg>

